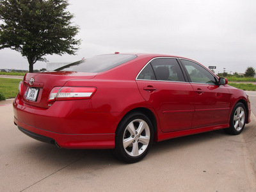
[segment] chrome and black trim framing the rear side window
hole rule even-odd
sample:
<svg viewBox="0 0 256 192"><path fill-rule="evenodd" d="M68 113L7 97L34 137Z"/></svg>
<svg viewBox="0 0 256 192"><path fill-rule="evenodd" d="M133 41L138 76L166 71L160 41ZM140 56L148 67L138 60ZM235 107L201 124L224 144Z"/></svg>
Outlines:
<svg viewBox="0 0 256 192"><path fill-rule="evenodd" d="M138 77L140 76L140 74L144 70L144 68L147 67L147 65L150 65L151 61L156 60L156 59L175 59L180 67L180 70L182 72L182 75L183 75L185 81L164 81L164 80L157 80L157 79L156 80L155 79L138 79ZM155 74L155 76L156 76L156 74ZM188 78L186 76L187 76L187 74L184 74L184 69L183 69L182 64L179 61L179 58L177 58L177 57L156 57L156 58L152 58L150 61L148 61L146 63L146 65L143 68L141 68L141 70L140 70L140 72L138 72L138 75L136 76L135 80L136 81L163 81L163 82L170 82L170 83L171 82L173 82L173 83L189 83Z"/></svg>

